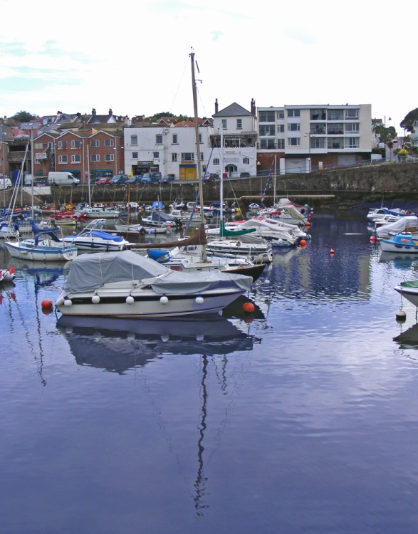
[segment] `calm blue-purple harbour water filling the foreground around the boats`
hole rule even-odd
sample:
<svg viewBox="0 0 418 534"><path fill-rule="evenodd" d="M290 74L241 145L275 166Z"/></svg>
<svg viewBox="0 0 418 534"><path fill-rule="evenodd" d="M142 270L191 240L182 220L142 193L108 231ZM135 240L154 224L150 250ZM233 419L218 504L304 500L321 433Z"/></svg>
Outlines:
<svg viewBox="0 0 418 534"><path fill-rule="evenodd" d="M381 258L365 214L310 234L254 314L163 323L43 313L63 266L1 250L0 532L416 532L418 333L393 287L418 258Z"/></svg>

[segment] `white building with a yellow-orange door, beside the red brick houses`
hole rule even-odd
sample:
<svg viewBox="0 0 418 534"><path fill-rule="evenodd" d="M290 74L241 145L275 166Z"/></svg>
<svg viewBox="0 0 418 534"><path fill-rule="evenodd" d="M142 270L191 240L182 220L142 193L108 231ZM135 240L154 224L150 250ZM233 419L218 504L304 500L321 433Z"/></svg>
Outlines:
<svg viewBox="0 0 418 534"><path fill-rule="evenodd" d="M193 122L182 126L152 125L124 128L125 174L161 172L175 179L197 179L196 131ZM202 172L210 154L213 129L199 126Z"/></svg>

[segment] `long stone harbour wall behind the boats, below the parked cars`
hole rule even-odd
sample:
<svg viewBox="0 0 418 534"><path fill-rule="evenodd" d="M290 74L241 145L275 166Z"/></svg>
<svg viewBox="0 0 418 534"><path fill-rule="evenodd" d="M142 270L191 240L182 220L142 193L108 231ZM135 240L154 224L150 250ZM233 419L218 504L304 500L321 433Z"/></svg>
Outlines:
<svg viewBox="0 0 418 534"><path fill-rule="evenodd" d="M341 205L350 207L360 203L380 204L382 197L387 201L418 204L417 172L418 162L394 162L310 174L286 174L276 177L276 185L273 176L226 179L223 196L229 204L236 202L244 210L252 202L259 203L262 197L264 204L270 204L275 190L276 197L289 197L300 204L316 208ZM205 204L219 201L220 182L206 182L203 187ZM123 185L95 185L90 187L90 198L92 203L115 204L127 202L129 195L130 201L139 204L151 204L157 199L168 204L176 197L194 201L198 190L196 182L132 184L129 190ZM6 194L9 197L10 191ZM78 204L88 201L88 198L88 186L85 185L73 188L53 187L50 194L38 195L35 204L53 203L61 206L70 202ZM30 195L24 195L23 204L31 204Z"/></svg>

